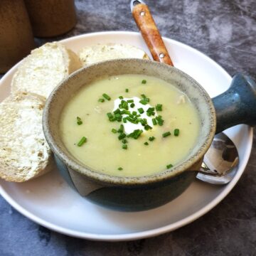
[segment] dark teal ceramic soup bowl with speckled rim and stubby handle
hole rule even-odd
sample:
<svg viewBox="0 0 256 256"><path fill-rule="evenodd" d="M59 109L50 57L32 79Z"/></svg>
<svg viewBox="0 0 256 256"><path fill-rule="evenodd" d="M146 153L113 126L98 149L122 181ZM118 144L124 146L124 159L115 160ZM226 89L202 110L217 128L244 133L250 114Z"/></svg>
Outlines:
<svg viewBox="0 0 256 256"><path fill-rule="evenodd" d="M123 74L161 78L184 92L196 107L200 136L186 159L173 168L150 176L111 176L90 169L65 148L60 115L72 95L96 79ZM190 186L216 132L235 124L256 124L256 112L251 111L256 109L255 99L255 82L243 75L236 75L230 89L212 100L196 80L177 68L149 60L108 60L76 71L53 90L43 112L43 132L60 174L81 196L115 210L148 210L168 203Z"/></svg>

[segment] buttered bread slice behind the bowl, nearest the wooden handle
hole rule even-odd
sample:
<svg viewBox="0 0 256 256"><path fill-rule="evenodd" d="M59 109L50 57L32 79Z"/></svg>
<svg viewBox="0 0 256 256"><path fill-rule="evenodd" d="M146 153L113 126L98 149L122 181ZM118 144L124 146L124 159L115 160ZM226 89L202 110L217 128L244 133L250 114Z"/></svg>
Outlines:
<svg viewBox="0 0 256 256"><path fill-rule="evenodd" d="M142 58L149 60L144 50L135 46L122 44L95 44L82 48L79 53L79 58L83 65L90 65L102 60L112 60L117 58Z"/></svg>

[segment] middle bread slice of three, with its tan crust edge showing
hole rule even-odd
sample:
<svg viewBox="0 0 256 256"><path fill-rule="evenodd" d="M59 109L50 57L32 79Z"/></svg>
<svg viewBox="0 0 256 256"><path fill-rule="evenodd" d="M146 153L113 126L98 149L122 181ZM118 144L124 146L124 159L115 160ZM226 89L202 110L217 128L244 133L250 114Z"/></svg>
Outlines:
<svg viewBox="0 0 256 256"><path fill-rule="evenodd" d="M46 43L23 59L11 81L11 92L33 92L48 97L70 73L82 67L78 55L61 43Z"/></svg>

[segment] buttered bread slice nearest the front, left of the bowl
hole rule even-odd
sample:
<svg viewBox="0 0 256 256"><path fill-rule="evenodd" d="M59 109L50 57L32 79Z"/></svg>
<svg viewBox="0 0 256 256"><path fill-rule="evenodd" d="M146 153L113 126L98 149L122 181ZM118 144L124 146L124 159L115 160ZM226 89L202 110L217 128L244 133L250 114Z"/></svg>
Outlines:
<svg viewBox="0 0 256 256"><path fill-rule="evenodd" d="M53 167L43 135L45 98L28 92L10 95L0 104L0 178L28 181Z"/></svg>

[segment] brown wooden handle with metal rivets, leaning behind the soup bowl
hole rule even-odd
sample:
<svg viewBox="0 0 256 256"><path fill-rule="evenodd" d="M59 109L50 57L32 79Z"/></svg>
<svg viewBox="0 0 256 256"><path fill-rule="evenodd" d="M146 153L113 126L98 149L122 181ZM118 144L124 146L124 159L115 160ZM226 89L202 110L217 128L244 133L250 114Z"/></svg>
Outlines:
<svg viewBox="0 0 256 256"><path fill-rule="evenodd" d="M132 15L142 33L146 45L149 47L154 60L167 65L174 65L164 45L156 23L146 4L137 4L132 9Z"/></svg>

